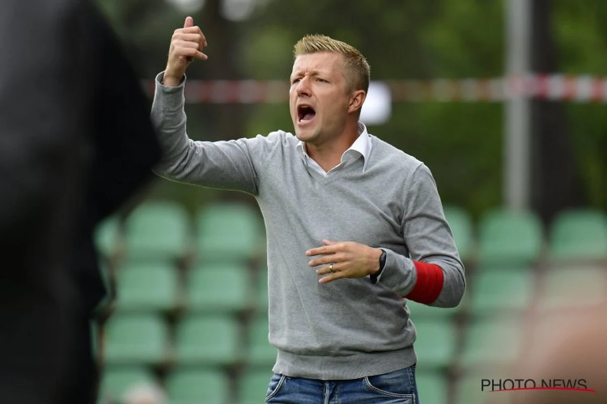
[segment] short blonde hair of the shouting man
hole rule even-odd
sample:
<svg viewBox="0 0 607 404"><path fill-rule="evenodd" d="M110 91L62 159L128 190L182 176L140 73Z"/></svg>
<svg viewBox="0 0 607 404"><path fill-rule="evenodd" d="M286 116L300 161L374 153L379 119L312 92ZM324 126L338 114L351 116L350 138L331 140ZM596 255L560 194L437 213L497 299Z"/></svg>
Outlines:
<svg viewBox="0 0 607 404"><path fill-rule="evenodd" d="M293 47L293 58L308 53L331 52L344 58L345 76L350 90L369 90L371 68L362 53L351 45L326 35L306 35Z"/></svg>

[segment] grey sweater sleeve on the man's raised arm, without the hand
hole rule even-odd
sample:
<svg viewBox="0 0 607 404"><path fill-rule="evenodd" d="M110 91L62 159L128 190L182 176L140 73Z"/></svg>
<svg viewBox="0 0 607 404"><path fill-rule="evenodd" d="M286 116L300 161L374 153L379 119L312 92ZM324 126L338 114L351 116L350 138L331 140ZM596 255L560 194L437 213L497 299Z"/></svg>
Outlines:
<svg viewBox="0 0 607 404"><path fill-rule="evenodd" d="M265 137L231 141L193 141L186 133L184 87L162 84L163 74L155 79L151 118L158 133L160 162L154 172L177 182L202 187L243 191L256 195L259 178L254 159Z"/></svg>

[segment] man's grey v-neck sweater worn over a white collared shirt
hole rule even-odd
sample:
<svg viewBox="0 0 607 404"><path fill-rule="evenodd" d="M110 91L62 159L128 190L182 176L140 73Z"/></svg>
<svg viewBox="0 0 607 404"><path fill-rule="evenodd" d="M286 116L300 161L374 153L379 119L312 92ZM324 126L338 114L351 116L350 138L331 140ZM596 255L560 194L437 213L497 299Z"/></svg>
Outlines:
<svg viewBox="0 0 607 404"><path fill-rule="evenodd" d="M152 120L163 158L155 172L203 187L256 197L268 242L270 343L274 371L313 379L356 379L416 362L406 296L412 260L443 268L433 305L458 305L464 267L429 169L378 137L371 153L327 177L308 169L293 134L274 131L233 141L195 142L186 134L183 87L157 77ZM323 239L387 251L377 283L369 277L320 285L305 251ZM229 285L226 285L229 288Z"/></svg>

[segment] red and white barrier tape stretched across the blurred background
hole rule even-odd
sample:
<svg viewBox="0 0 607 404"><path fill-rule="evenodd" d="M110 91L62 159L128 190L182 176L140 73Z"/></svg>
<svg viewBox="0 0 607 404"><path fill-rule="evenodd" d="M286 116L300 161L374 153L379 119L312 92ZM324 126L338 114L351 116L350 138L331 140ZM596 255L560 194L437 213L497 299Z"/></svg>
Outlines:
<svg viewBox="0 0 607 404"><path fill-rule="evenodd" d="M590 75L526 75L492 79L388 80L393 102L500 102L513 97L551 101L607 102L607 79ZM150 93L154 82L146 82ZM271 104L287 102L287 81L189 80L191 104Z"/></svg>

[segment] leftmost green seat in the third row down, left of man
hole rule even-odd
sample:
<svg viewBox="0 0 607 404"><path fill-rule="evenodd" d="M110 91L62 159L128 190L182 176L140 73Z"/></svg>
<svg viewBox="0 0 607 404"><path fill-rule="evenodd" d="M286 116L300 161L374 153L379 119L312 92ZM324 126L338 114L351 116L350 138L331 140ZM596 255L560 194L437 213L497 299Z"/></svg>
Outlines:
<svg viewBox="0 0 607 404"><path fill-rule="evenodd" d="M154 314L114 314L105 329L105 362L160 365L168 355L168 329Z"/></svg>

